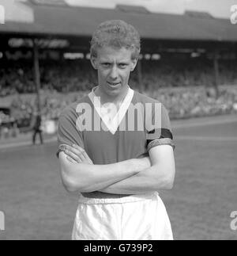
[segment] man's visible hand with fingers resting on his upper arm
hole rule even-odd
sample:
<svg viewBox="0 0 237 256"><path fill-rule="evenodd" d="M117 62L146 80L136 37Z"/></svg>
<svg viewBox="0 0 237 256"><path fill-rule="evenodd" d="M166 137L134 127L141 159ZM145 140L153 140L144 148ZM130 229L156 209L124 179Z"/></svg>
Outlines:
<svg viewBox="0 0 237 256"><path fill-rule="evenodd" d="M59 149L64 151L68 159L72 163L87 163L93 164L92 159L90 159L82 147L73 144L72 146L62 144L59 146Z"/></svg>

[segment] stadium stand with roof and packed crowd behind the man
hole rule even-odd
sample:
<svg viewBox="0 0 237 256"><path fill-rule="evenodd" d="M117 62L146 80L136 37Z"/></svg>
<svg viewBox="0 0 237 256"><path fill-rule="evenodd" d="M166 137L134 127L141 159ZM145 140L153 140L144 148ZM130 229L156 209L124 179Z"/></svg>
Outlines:
<svg viewBox="0 0 237 256"><path fill-rule="evenodd" d="M43 120L57 120L66 105L96 86L88 59L66 60L64 54L87 55L92 31L111 18L125 20L141 33L143 58L130 86L164 103L172 119L237 112L237 26L228 20L190 11L152 13L141 6L72 8L63 0L21 5L33 10L33 22L0 26L0 108L3 99L8 105L7 111L0 109L2 129L27 127L36 109L32 40L40 53ZM217 82L223 85L220 94L213 89Z"/></svg>

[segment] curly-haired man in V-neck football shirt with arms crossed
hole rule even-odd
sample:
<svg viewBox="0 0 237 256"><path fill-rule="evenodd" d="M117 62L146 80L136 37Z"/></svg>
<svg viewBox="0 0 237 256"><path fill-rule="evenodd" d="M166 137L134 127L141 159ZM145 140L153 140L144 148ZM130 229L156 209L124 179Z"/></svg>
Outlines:
<svg viewBox="0 0 237 256"><path fill-rule="evenodd" d="M133 26L100 24L91 41L98 86L59 118L62 182L81 193L73 239L173 239L156 192L175 178L170 121L160 102L128 86L139 53Z"/></svg>

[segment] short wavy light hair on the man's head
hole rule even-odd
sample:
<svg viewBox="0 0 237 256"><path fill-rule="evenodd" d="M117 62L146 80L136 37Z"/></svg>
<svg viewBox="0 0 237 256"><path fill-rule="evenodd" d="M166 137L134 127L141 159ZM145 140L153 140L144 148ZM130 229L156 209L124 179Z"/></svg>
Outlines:
<svg viewBox="0 0 237 256"><path fill-rule="evenodd" d="M141 38L134 26L125 21L104 21L92 35L91 56L97 57L97 49L103 46L132 49L134 50L132 59L138 59L141 51Z"/></svg>

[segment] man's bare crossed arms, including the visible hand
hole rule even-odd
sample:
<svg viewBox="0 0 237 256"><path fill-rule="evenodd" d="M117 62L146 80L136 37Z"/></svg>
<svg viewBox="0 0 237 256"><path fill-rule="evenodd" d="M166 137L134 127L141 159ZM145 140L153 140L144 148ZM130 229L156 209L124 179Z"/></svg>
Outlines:
<svg viewBox="0 0 237 256"><path fill-rule="evenodd" d="M171 189L175 179L173 148L152 147L149 157L108 165L93 165L81 147L64 147L59 154L62 183L70 192L101 191L139 194Z"/></svg>

